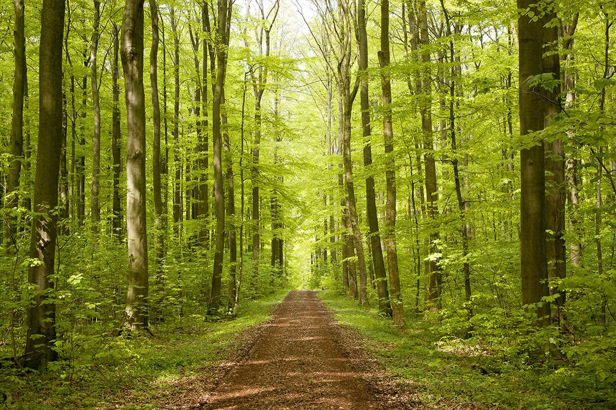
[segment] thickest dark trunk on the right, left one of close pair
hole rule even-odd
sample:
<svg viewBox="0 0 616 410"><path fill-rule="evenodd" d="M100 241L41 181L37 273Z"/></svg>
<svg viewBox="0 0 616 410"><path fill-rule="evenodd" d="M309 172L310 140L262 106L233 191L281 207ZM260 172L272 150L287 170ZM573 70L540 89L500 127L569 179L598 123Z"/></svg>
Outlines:
<svg viewBox="0 0 616 410"><path fill-rule="evenodd" d="M530 0L517 0L517 8L538 11ZM543 74L543 20L529 15L518 19L520 133L527 135L544 126L544 102L541 94L529 86L529 76ZM543 140L522 149L520 254L522 263L522 303L541 302L549 295L545 238L545 153ZM538 317L549 315L549 305L537 309ZM548 322L543 321L547 324Z"/></svg>

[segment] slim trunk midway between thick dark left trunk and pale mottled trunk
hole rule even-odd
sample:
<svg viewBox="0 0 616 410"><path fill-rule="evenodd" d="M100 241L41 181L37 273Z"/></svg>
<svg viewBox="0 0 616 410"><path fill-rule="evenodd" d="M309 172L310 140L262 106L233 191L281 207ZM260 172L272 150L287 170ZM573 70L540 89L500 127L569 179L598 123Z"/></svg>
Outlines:
<svg viewBox="0 0 616 410"><path fill-rule="evenodd" d="M100 220L99 206L99 171L100 171L100 104L98 67L96 55L99 50L100 1L94 0L94 28L92 30L92 45L90 47L90 85L92 87L92 108L94 109L94 140L92 140L92 199L91 218L92 232L98 234Z"/></svg>

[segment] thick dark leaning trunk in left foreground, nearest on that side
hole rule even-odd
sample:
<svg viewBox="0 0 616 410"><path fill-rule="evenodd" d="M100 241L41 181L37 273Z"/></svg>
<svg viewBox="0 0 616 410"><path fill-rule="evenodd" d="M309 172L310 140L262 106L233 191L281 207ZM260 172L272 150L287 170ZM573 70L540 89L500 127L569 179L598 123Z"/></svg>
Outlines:
<svg viewBox="0 0 616 410"><path fill-rule="evenodd" d="M34 176L34 214L30 239L32 264L28 282L36 290L28 309L25 365L44 371L57 358L55 342L54 256L62 150L62 39L64 0L44 0L39 44L39 137Z"/></svg>

